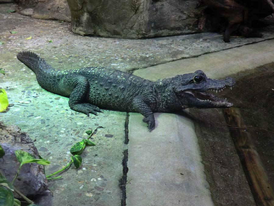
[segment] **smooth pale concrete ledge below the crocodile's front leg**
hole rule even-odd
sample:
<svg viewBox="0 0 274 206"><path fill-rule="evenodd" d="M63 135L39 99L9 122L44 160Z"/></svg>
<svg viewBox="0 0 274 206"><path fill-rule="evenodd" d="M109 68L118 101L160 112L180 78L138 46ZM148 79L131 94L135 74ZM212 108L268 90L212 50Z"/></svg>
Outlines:
<svg viewBox="0 0 274 206"><path fill-rule="evenodd" d="M127 205L213 205L192 121L176 114L154 115L152 132L141 114L129 116Z"/></svg>

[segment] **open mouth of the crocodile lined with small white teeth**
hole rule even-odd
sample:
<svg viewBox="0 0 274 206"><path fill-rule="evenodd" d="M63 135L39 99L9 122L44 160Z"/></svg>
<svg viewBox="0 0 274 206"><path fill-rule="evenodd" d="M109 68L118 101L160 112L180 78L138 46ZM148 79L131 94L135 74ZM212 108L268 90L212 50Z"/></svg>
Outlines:
<svg viewBox="0 0 274 206"><path fill-rule="evenodd" d="M221 92L223 91L223 89L225 89L226 87L220 88L220 89L210 89L213 92ZM232 89L232 87L229 87L230 89ZM202 101L204 103L209 103L209 104L213 104L216 107L231 107L233 106L233 103L230 103L227 101L227 98L219 98L216 97L215 95L213 95L213 93L209 93L209 92L198 92L195 91L193 89L188 89L188 90L184 90L182 91L183 93L188 93L192 96L194 96L196 99L198 99L199 101Z"/></svg>

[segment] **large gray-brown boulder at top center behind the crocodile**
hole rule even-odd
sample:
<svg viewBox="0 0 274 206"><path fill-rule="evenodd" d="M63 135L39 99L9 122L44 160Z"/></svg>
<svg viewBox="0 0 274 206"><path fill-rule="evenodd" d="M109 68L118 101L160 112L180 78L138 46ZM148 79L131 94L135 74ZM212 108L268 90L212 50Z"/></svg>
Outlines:
<svg viewBox="0 0 274 206"><path fill-rule="evenodd" d="M67 0L72 31L82 35L147 38L198 31L197 0Z"/></svg>

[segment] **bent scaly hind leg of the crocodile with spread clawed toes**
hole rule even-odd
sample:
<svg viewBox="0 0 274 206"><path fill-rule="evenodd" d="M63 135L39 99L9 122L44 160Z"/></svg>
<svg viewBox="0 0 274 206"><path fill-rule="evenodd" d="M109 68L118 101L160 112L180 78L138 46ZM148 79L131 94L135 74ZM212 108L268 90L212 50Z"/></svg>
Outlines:
<svg viewBox="0 0 274 206"><path fill-rule="evenodd" d="M89 113L97 115L97 112L101 112L100 108L86 103L86 97L89 95L89 81L86 77L81 75L69 75L63 78L61 84L63 87L61 90L65 94L70 93L68 106L77 112L82 112L87 116L90 116Z"/></svg>

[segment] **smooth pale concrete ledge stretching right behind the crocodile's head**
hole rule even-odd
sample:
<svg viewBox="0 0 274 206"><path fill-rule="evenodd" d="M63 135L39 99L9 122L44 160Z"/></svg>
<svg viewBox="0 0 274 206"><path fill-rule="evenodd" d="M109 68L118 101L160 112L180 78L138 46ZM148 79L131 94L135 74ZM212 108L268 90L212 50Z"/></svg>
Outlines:
<svg viewBox="0 0 274 206"><path fill-rule="evenodd" d="M272 63L274 47L269 45L274 45L274 39L139 69L133 74L155 81L203 70L209 78L223 78Z"/></svg>

